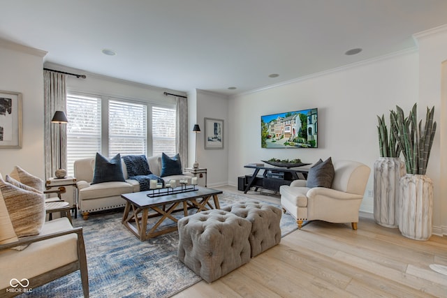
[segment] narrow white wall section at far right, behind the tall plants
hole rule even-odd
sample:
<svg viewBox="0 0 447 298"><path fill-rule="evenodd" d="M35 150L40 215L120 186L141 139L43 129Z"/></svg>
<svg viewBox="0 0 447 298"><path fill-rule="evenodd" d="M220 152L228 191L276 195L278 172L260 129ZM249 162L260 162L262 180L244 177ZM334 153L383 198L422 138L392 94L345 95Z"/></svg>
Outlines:
<svg viewBox="0 0 447 298"><path fill-rule="evenodd" d="M434 185L433 232L447 234L447 25L418 33L416 40L420 56L418 114L425 119L426 107L434 106L434 120L438 125L427 165L427 176Z"/></svg>

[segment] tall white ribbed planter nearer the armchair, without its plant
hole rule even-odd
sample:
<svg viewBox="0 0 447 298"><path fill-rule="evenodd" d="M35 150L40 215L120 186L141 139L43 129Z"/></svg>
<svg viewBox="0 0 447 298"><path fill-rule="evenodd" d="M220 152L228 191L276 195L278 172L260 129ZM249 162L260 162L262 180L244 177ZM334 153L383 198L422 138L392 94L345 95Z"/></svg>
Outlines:
<svg viewBox="0 0 447 298"><path fill-rule="evenodd" d="M381 157L374 163L374 220L383 227L399 225L399 185L405 172L398 157Z"/></svg>

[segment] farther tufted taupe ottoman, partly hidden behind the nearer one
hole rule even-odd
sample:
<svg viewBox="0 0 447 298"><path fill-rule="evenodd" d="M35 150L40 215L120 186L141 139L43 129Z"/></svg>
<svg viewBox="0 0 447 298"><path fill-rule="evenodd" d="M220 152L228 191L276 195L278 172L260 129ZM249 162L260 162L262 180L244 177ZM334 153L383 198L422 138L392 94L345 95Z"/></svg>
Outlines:
<svg viewBox="0 0 447 298"><path fill-rule="evenodd" d="M246 218L251 222L249 237L251 258L267 251L281 241L281 209L258 201L247 201L223 207L222 210Z"/></svg>

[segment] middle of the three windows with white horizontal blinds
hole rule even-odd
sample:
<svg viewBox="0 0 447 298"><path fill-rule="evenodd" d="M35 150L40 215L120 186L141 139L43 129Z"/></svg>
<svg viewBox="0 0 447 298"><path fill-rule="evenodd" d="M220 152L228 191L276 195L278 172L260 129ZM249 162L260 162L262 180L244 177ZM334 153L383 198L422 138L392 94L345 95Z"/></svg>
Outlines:
<svg viewBox="0 0 447 298"><path fill-rule="evenodd" d="M147 105L109 100L108 118L109 156L146 154Z"/></svg>

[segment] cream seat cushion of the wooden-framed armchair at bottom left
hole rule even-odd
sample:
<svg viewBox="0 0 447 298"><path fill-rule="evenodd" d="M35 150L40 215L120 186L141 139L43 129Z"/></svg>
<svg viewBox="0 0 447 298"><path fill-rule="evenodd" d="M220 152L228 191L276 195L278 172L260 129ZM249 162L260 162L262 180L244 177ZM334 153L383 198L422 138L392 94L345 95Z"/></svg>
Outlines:
<svg viewBox="0 0 447 298"><path fill-rule="evenodd" d="M43 225L41 235L71 229L73 227L68 218L57 218ZM67 234L29 244L24 251L13 249L2 251L0 253L0 289L10 287L9 281L12 278L32 278L75 262L78 260L77 239L76 234Z"/></svg>

